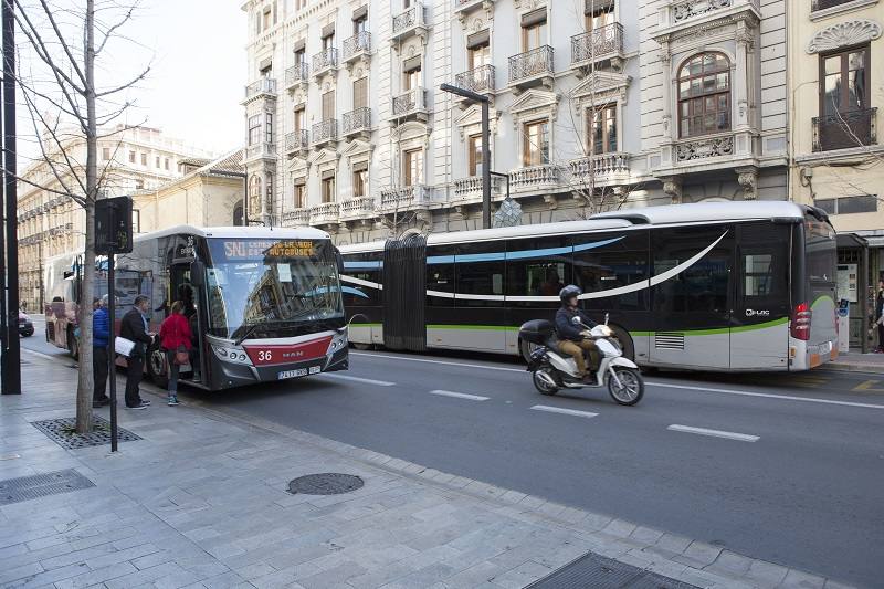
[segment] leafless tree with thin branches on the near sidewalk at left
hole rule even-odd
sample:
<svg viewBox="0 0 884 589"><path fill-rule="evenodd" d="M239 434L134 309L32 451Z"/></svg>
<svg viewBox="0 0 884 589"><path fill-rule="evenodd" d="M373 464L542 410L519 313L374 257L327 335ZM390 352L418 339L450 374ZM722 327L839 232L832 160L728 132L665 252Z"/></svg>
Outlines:
<svg viewBox="0 0 884 589"><path fill-rule="evenodd" d="M2 0L15 10L23 35L19 51L27 74L18 77L23 104L40 145L49 178L19 178L23 183L75 202L85 212L85 251L80 298L80 371L76 431L92 431L92 299L95 283L95 201L107 185L108 167L98 167L101 129L124 120L127 93L141 82L149 66L123 81L96 80L118 71L112 62L117 41L137 8L114 0ZM101 67L102 63L108 67ZM117 128L124 130L123 126ZM86 146L85 161L72 152L75 141ZM108 164L109 166L109 164ZM110 376L114 378L114 375Z"/></svg>

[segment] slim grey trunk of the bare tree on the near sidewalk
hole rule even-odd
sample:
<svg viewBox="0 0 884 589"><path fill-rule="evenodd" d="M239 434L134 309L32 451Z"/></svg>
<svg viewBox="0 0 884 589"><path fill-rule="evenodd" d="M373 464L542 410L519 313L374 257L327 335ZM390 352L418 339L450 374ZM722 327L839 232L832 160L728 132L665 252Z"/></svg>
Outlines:
<svg viewBox="0 0 884 589"><path fill-rule="evenodd" d="M76 431L92 431L92 299L95 293L95 199L98 194L98 125L95 114L95 0L86 0L83 25L84 75L86 77L86 240L83 286L80 296L80 375L76 389ZM114 318L110 318L112 329ZM116 378L116 375L109 375Z"/></svg>

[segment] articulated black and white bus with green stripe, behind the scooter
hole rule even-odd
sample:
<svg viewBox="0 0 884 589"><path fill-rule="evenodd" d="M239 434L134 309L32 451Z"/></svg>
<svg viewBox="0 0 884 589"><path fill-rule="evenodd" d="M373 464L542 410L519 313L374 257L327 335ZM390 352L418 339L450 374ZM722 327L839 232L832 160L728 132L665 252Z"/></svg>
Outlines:
<svg viewBox="0 0 884 589"><path fill-rule="evenodd" d="M577 284L643 367L807 370L836 357L835 232L790 202L629 209L567 221L346 245L350 343L530 355Z"/></svg>

